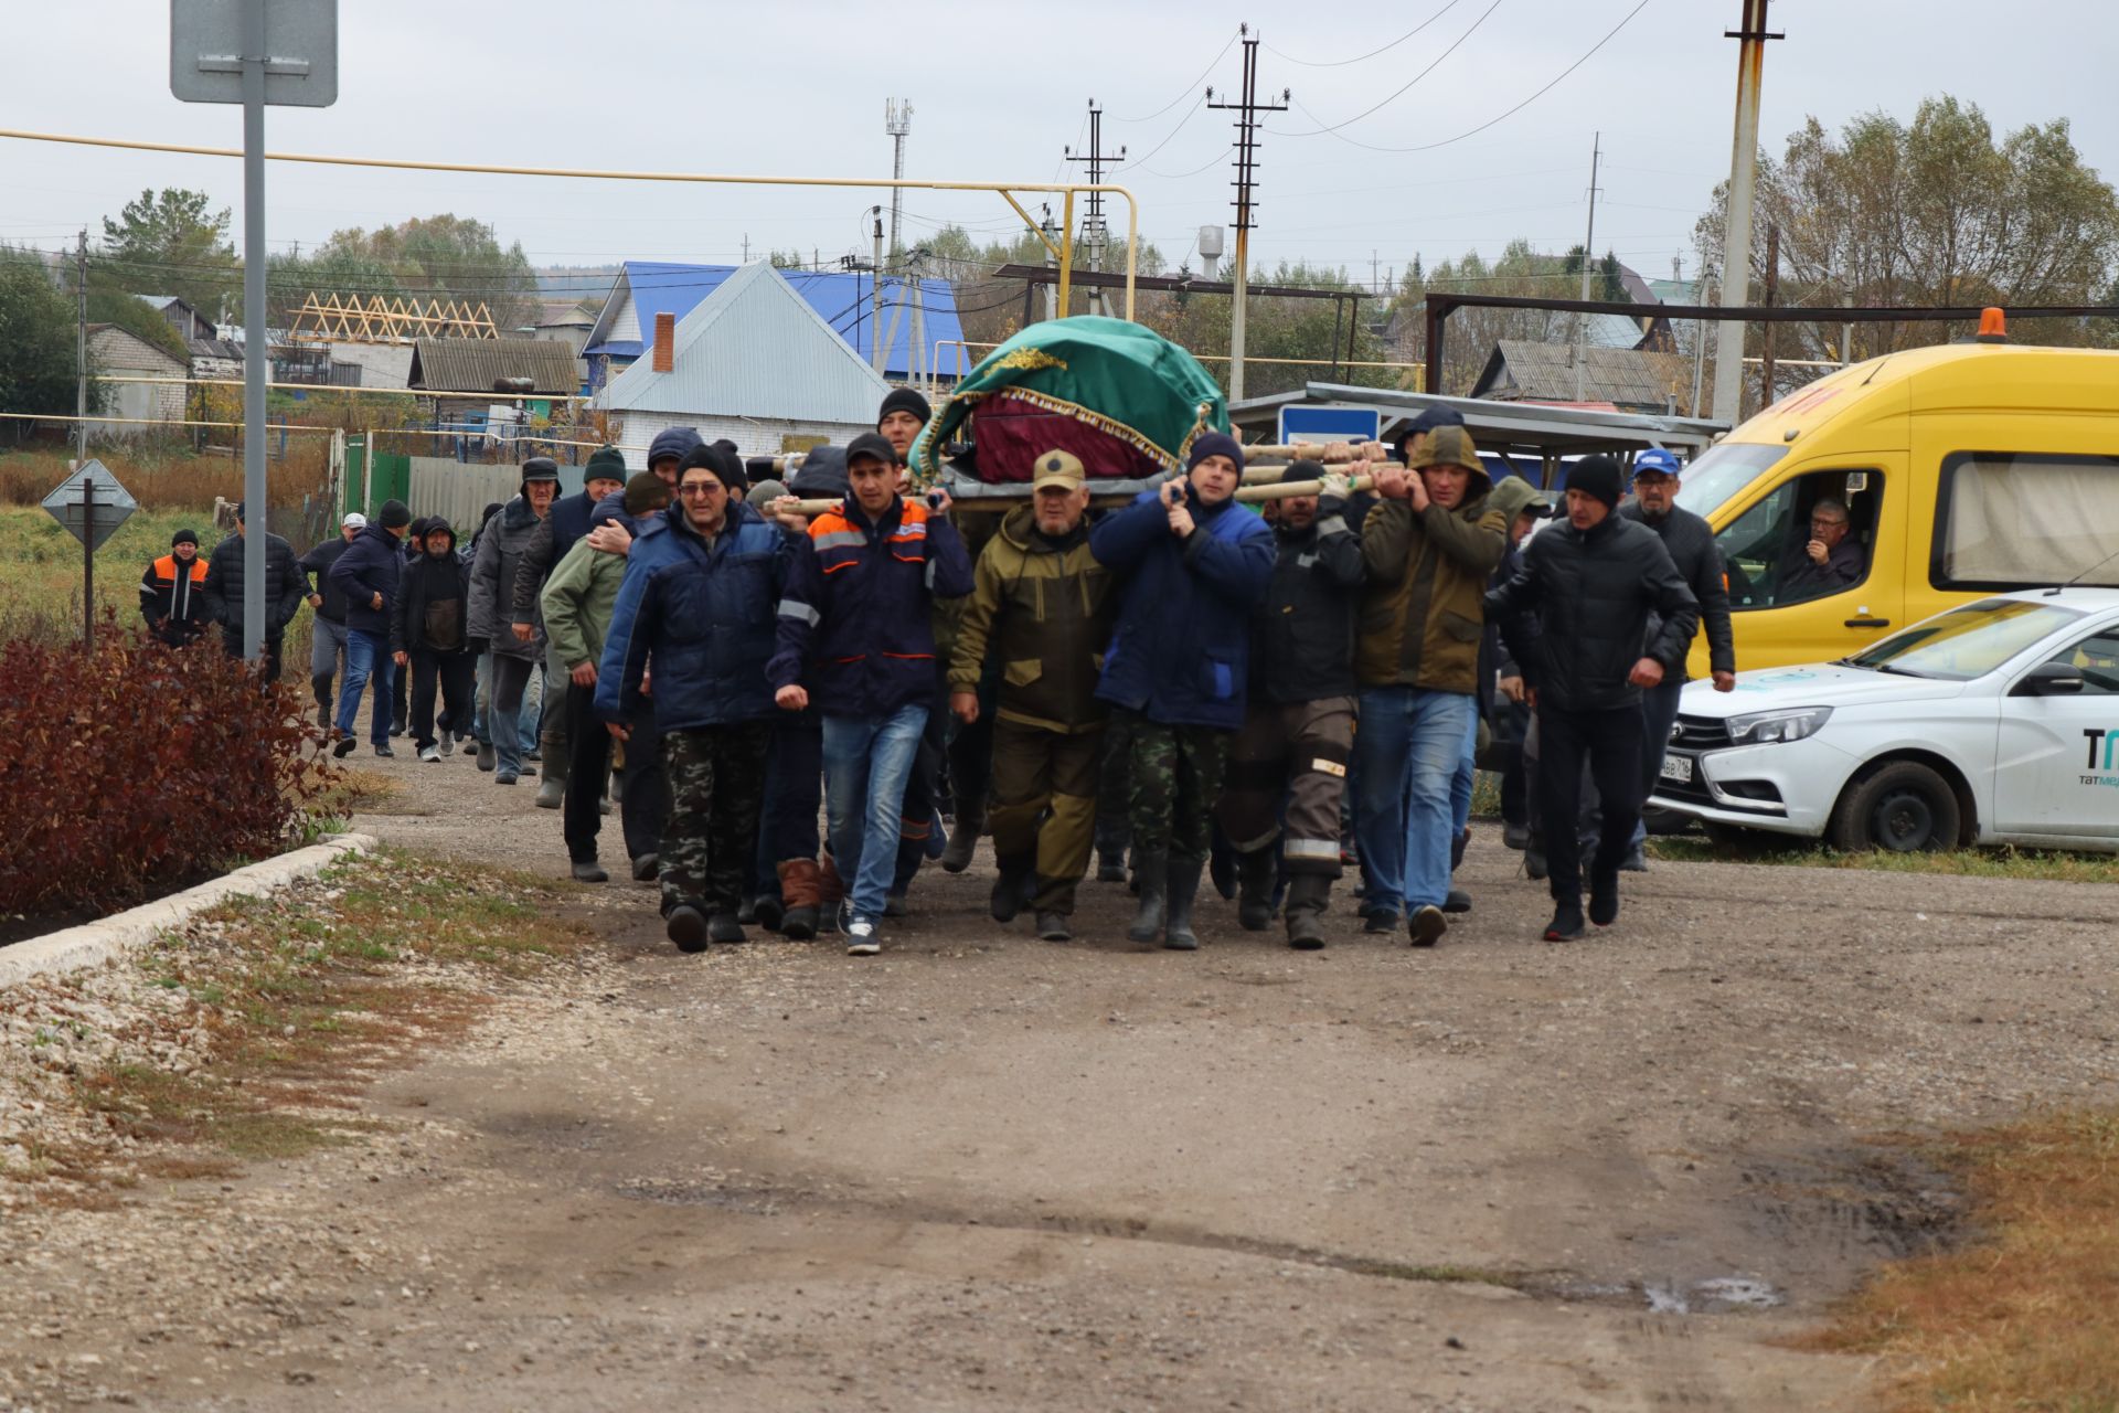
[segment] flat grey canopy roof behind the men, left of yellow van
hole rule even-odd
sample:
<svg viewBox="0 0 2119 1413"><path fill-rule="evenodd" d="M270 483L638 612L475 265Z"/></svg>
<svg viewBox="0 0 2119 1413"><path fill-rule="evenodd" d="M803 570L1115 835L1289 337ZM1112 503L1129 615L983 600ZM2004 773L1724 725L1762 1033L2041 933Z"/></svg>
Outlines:
<svg viewBox="0 0 2119 1413"><path fill-rule="evenodd" d="M1551 485L1551 472L1562 458L1589 455L1591 451L1632 455L1649 447L1666 447L1689 458L1729 430L1727 424L1699 417L1447 398L1439 392L1399 392L1348 383L1307 383L1301 392L1246 398L1229 407L1229 419L1248 441L1265 441L1278 434L1282 407L1373 411L1384 441L1396 436L1407 422L1426 409L1447 407L1464 417L1464 426L1481 451L1534 460L1543 470L1543 485Z"/></svg>

